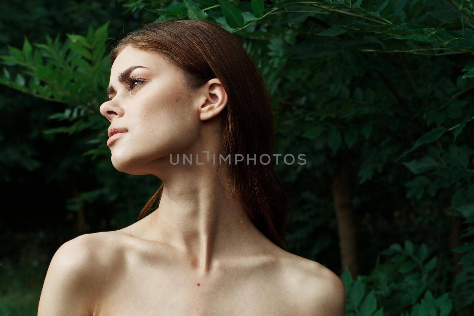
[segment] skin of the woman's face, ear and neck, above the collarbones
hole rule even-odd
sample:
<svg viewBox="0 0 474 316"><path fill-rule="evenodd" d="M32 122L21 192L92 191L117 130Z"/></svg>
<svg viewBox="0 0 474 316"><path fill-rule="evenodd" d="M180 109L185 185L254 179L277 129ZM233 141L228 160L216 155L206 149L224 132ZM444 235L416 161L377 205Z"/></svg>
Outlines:
<svg viewBox="0 0 474 316"><path fill-rule="evenodd" d="M139 64L137 62L139 61ZM120 72L132 66L130 75L146 80L133 90L118 82ZM117 92L100 107L113 127L125 127L111 146L114 167L129 174L153 174L164 181L159 208L140 221L139 229L125 231L173 247L189 258L198 276L205 276L219 258L246 252L264 236L250 222L243 206L232 199L224 166L200 160L201 164L173 165L182 154L219 153L220 117L227 93L219 79L212 79L188 98L190 89L181 81L180 69L157 54L126 47L112 65L109 85ZM176 161L176 160L174 160Z"/></svg>

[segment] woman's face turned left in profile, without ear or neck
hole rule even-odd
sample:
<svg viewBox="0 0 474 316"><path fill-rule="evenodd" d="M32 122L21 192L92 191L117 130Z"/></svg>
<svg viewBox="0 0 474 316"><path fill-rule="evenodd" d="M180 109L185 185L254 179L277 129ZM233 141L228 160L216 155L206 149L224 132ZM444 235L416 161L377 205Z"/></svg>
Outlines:
<svg viewBox="0 0 474 316"><path fill-rule="evenodd" d="M110 72L111 99L100 106L109 127L128 130L109 145L114 167L155 174L169 164L170 153L185 152L200 127L198 102L189 96L178 67L158 54L126 46Z"/></svg>

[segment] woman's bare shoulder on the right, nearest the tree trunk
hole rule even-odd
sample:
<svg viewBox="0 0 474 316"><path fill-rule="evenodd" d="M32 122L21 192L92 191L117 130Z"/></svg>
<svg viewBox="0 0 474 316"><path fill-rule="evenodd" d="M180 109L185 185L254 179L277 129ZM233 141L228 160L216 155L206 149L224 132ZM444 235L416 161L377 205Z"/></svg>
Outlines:
<svg viewBox="0 0 474 316"><path fill-rule="evenodd" d="M344 316L346 289L336 273L322 264L287 255L288 281L298 315Z"/></svg>

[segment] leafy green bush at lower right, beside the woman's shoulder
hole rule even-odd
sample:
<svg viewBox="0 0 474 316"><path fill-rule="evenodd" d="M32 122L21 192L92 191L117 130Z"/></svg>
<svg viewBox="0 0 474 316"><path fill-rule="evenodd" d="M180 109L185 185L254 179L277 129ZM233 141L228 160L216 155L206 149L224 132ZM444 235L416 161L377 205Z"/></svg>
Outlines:
<svg viewBox="0 0 474 316"><path fill-rule="evenodd" d="M450 293L433 297L433 292L439 292L438 257L429 256L426 244L416 249L406 240L403 248L392 244L381 254L388 261L377 261L369 275L353 281L346 270L341 276L347 295L346 316L449 315L453 307Z"/></svg>

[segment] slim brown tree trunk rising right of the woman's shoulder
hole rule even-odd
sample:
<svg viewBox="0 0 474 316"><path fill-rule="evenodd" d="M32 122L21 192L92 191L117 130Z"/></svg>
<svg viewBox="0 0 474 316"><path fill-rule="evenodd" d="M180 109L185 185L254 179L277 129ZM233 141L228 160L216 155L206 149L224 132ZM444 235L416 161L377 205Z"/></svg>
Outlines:
<svg viewBox="0 0 474 316"><path fill-rule="evenodd" d="M336 210L341 253L341 273L346 268L355 279L359 274L357 262L357 233L352 208L351 157L349 151L339 151L336 155L336 169L331 182L331 191Z"/></svg>

